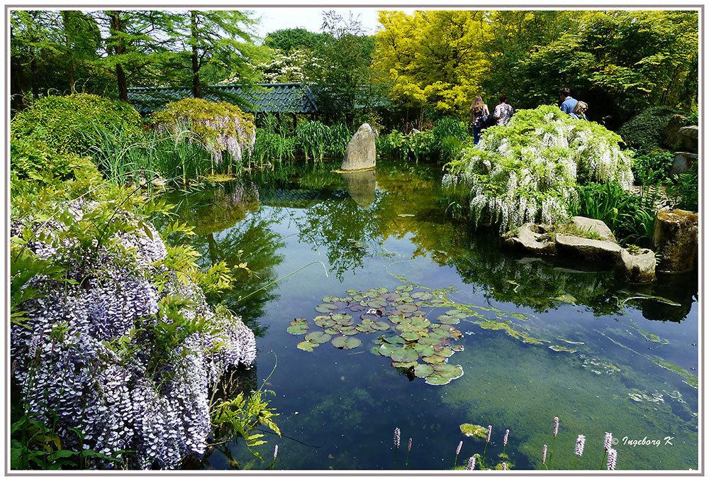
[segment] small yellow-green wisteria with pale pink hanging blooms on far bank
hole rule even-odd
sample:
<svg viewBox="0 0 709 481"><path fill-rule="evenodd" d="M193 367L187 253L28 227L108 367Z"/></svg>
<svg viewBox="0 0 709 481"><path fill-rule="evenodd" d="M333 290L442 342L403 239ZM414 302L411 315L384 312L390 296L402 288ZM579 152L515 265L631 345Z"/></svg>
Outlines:
<svg viewBox="0 0 709 481"><path fill-rule="evenodd" d="M224 152L240 162L243 153L253 150L255 143L254 116L228 102L182 99L170 102L163 111L153 112L152 121L161 133L177 134L189 129L190 141L208 150L216 164L222 162Z"/></svg>

